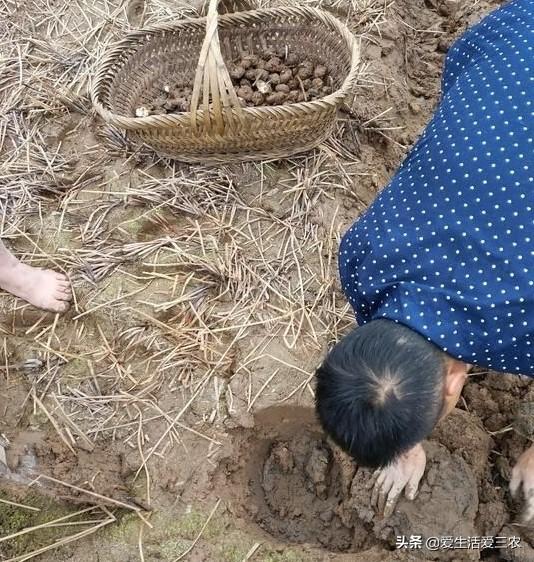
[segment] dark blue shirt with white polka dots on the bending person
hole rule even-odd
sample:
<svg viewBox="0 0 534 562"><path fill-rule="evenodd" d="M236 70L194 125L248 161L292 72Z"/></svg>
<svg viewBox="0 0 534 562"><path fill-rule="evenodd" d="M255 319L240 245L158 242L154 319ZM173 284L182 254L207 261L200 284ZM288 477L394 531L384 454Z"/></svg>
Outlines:
<svg viewBox="0 0 534 562"><path fill-rule="evenodd" d="M342 239L361 325L388 318L466 363L534 376L534 0L469 29L440 104Z"/></svg>

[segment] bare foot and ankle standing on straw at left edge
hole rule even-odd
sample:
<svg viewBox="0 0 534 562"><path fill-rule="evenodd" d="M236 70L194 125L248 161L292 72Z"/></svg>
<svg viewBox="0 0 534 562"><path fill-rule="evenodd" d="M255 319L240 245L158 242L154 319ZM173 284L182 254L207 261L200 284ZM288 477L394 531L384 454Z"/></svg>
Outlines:
<svg viewBox="0 0 534 562"><path fill-rule="evenodd" d="M72 298L65 275L21 263L1 240L0 289L52 312L65 312Z"/></svg>

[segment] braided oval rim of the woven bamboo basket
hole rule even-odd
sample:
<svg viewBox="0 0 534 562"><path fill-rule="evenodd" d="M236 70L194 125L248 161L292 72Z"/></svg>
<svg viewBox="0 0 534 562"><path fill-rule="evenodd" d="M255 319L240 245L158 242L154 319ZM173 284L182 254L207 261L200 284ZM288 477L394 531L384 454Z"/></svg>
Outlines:
<svg viewBox="0 0 534 562"><path fill-rule="evenodd" d="M267 117L291 117L295 118L299 113L309 115L313 111L321 111L334 109L339 106L345 98L351 93L354 83L359 74L360 65L360 41L350 31L350 29L341 22L338 18L321 10L319 8L311 8L306 6L300 7L279 7L279 8L263 8L257 10L249 10L246 12L235 12L224 15L219 15L219 22L223 25L230 26L231 24L249 23L251 20L261 21L268 16L300 16L306 19L316 19L322 21L325 25L337 30L340 35L345 39L347 47L351 52L351 68L341 86L335 91L315 101L305 101L292 103L290 105L276 105L276 106L262 106L262 107L247 107L242 108L245 119L258 119ZM191 112L181 112L168 115L149 115L147 117L132 117L114 113L108 109L109 104L104 97L104 87L113 78L113 67L119 55L122 54L125 48L128 48L136 43L139 37L146 36L147 34L156 35L162 32L174 32L183 27L200 27L202 28L206 23L207 17L199 18L185 18L177 22L158 23L147 26L142 29L131 31L126 34L122 39L116 42L103 57L99 64L98 71L91 84L90 96L94 108L97 113L109 124L115 125L122 129L132 131L143 131L150 129L166 129L174 128L177 126L191 126ZM232 109L232 114L235 116L235 109ZM201 123L204 118L204 111L197 111L197 123ZM248 120L247 119L247 120Z"/></svg>

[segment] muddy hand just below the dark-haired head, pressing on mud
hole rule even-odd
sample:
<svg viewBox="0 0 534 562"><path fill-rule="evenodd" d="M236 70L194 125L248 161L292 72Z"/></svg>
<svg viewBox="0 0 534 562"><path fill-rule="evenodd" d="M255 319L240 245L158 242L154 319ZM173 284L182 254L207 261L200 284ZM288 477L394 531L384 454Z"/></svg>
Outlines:
<svg viewBox="0 0 534 562"><path fill-rule="evenodd" d="M386 468L377 470L368 485L368 488L374 486L371 505L376 506L379 513L383 511L384 517L389 517L404 489L409 500L415 499L425 466L425 451L419 444Z"/></svg>

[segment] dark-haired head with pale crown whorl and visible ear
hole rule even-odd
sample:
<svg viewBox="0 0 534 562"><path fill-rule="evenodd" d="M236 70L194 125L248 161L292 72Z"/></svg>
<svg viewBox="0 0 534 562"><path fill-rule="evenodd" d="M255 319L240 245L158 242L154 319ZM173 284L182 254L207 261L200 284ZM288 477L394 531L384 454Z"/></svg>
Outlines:
<svg viewBox="0 0 534 562"><path fill-rule="evenodd" d="M324 430L362 466L383 467L456 405L468 365L390 320L354 329L316 373Z"/></svg>

